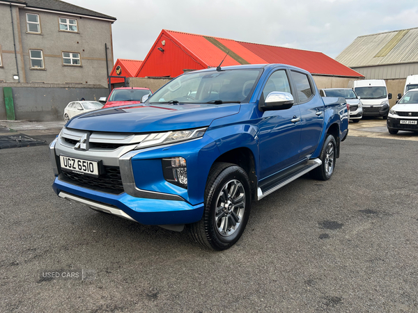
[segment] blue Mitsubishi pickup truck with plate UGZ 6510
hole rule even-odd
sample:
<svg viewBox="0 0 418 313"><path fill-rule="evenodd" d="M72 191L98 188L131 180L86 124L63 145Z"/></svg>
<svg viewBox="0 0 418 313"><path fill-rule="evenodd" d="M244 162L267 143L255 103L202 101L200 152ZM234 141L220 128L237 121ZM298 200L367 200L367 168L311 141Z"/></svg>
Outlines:
<svg viewBox="0 0 418 313"><path fill-rule="evenodd" d="M346 100L320 97L297 67L189 72L144 103L72 118L49 146L53 188L224 250L244 232L251 201L307 172L332 176L348 118Z"/></svg>

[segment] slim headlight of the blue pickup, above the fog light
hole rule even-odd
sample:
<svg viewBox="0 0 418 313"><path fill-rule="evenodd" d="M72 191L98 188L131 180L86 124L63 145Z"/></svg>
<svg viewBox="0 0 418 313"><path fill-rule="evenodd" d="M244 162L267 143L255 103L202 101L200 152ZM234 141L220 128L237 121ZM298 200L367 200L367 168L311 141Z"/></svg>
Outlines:
<svg viewBox="0 0 418 313"><path fill-rule="evenodd" d="M165 133L153 133L146 136L146 138L135 147L141 149L143 147L151 147L154 145L167 145L169 143L178 143L180 141L189 141L203 137L206 128L188 129L183 131L166 131Z"/></svg>

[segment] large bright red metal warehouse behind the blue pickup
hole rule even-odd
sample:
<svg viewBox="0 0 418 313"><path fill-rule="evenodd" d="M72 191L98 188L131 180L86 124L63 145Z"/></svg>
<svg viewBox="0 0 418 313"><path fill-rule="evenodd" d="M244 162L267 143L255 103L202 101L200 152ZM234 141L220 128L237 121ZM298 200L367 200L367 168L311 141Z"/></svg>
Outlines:
<svg viewBox="0 0 418 313"><path fill-rule="evenodd" d="M229 51L229 55L226 53ZM284 63L311 74L346 78L363 77L321 52L259 45L163 29L136 77L177 77L187 70L240 64Z"/></svg>

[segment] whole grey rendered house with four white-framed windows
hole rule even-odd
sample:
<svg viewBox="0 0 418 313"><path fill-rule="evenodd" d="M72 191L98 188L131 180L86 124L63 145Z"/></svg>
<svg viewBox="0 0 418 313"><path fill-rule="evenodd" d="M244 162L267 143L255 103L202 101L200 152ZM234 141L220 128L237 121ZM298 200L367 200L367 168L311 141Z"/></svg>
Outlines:
<svg viewBox="0 0 418 313"><path fill-rule="evenodd" d="M115 21L59 0L0 0L0 82L107 86Z"/></svg>

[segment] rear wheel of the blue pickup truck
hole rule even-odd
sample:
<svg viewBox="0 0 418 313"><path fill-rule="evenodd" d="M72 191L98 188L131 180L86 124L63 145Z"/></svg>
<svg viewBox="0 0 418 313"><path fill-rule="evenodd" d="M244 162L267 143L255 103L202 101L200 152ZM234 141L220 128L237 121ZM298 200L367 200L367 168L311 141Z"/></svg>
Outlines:
<svg viewBox="0 0 418 313"><path fill-rule="evenodd" d="M317 168L314 168L314 170L311 170L309 174L314 179L330 179L334 172L336 161L336 143L334 136L331 134L328 134L327 138L325 138L323 150L320 152L319 159L322 161L322 164Z"/></svg>

